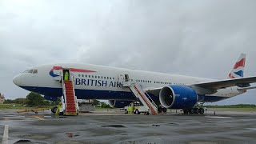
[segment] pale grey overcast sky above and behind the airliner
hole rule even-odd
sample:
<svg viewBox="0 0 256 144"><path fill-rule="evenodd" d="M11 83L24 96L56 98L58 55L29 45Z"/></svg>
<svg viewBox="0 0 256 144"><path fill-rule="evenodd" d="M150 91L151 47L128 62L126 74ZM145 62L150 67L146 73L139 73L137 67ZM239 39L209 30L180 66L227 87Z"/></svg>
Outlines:
<svg viewBox="0 0 256 144"><path fill-rule="evenodd" d="M0 92L25 98L15 75L79 62L227 77L241 53L256 75L256 1L0 0ZM255 103L256 90L218 104Z"/></svg>

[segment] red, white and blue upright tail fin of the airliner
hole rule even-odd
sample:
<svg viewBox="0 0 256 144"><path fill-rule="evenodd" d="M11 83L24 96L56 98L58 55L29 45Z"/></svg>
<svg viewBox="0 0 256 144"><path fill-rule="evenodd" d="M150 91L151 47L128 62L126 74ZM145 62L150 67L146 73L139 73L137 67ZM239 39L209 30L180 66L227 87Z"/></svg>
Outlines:
<svg viewBox="0 0 256 144"><path fill-rule="evenodd" d="M238 61L235 62L228 78L243 78L243 71L246 66L246 54L241 54Z"/></svg>

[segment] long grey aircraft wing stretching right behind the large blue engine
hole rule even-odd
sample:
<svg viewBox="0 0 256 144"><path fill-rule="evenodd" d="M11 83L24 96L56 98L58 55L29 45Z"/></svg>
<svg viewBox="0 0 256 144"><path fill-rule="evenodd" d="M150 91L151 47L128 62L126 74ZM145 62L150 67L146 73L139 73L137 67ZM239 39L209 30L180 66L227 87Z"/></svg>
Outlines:
<svg viewBox="0 0 256 144"><path fill-rule="evenodd" d="M247 77L247 78L233 78L233 79L225 79L214 82L201 82L194 84L192 86L199 86L202 88L210 89L210 90L218 90L223 89L230 86L240 86L247 87L250 86L250 83L256 82L256 77Z"/></svg>

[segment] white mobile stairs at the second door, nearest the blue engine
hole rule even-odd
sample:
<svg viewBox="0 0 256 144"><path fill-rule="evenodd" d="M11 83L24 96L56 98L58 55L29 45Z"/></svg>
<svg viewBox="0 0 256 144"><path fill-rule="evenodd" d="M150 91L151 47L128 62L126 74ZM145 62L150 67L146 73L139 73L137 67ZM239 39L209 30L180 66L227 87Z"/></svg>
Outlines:
<svg viewBox="0 0 256 144"><path fill-rule="evenodd" d="M146 91L142 90L141 86L137 82L122 82L123 87L129 87L130 91L138 98L144 106L147 106L150 113L153 115L158 114L158 106L154 103L150 95Z"/></svg>

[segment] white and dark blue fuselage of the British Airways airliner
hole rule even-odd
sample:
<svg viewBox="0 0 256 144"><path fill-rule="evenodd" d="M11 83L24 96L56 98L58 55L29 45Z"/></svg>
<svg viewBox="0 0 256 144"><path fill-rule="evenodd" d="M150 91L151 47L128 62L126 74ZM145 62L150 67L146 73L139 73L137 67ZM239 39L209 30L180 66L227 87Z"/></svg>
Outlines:
<svg viewBox="0 0 256 144"><path fill-rule="evenodd" d="M61 96L62 83L56 80L58 76L53 74L54 66L61 66L63 69L75 69L70 72L74 77L74 89L78 98L83 99L131 99L126 98L130 90L122 87L122 84L119 82L119 74L128 74L130 81L138 82L143 89L161 88L170 84L190 86L199 82L215 81L214 79L208 78L128 70L109 66L54 64L35 66L32 70L37 70L36 74L27 72L19 74L14 78L14 83L26 90L39 94ZM50 71L52 71L51 74ZM202 102L216 102L242 93L242 91L238 90L237 86L232 86L220 89L215 94L205 95ZM114 96L111 97L111 95ZM157 97L158 95L155 96Z"/></svg>

